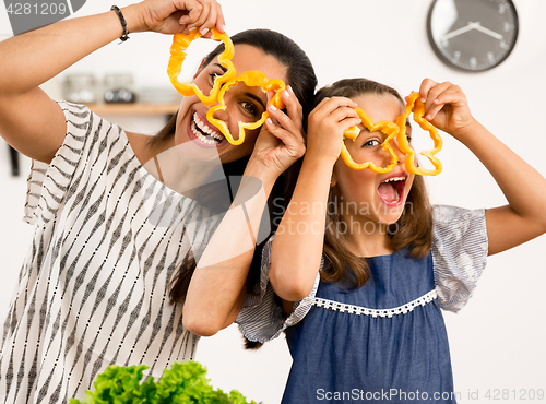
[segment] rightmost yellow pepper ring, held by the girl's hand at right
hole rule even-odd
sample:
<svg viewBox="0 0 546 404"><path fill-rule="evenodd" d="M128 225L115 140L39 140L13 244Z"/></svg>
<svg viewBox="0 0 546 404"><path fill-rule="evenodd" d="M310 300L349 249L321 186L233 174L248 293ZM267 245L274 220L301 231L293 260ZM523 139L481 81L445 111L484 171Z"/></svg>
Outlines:
<svg viewBox="0 0 546 404"><path fill-rule="evenodd" d="M415 108L414 108L415 106ZM430 134L430 138L435 142L435 147L431 150L423 151L419 154L427 157L430 163L432 163L432 166L435 167L434 169L426 169L422 167L417 167L415 165L415 151L413 147L410 145L410 142L407 141L406 138L406 126L405 121L407 117L410 116L410 112L413 111L413 119L416 121L419 127ZM423 116L425 115L425 105L419 98L419 93L417 92L412 92L410 96L407 97L407 103L406 107L404 110L404 114L401 115L400 117L396 118L396 123L400 127L400 132L397 134L397 144L400 147L400 151L402 153L405 153L407 156L404 162L404 166L407 173L410 174L417 174L420 176L436 176L441 173L442 170L442 164L440 161L435 156L438 152L441 151L442 148L442 139L438 134L438 130L435 128L432 123L427 121Z"/></svg>

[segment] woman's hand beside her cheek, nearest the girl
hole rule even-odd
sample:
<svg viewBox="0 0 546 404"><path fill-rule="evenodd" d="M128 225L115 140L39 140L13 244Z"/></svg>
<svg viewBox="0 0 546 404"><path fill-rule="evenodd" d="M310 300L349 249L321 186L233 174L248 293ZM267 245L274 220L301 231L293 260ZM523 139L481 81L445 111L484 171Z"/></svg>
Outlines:
<svg viewBox="0 0 546 404"><path fill-rule="evenodd" d="M268 94L268 98L271 99L272 95ZM290 86L281 93L281 97L287 114L268 106L270 117L260 130L249 161L249 165L261 163L275 178L306 152L301 105Z"/></svg>

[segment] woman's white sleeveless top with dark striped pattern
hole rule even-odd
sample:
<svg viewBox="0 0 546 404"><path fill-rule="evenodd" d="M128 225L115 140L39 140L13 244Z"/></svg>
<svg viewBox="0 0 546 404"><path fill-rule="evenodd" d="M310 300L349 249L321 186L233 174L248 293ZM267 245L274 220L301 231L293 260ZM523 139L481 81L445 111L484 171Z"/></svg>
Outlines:
<svg viewBox="0 0 546 404"><path fill-rule="evenodd" d="M110 364L142 363L157 378L192 359L199 340L167 285L212 219L150 175L119 127L59 105L64 143L28 178L35 234L3 329L3 403L81 399Z"/></svg>

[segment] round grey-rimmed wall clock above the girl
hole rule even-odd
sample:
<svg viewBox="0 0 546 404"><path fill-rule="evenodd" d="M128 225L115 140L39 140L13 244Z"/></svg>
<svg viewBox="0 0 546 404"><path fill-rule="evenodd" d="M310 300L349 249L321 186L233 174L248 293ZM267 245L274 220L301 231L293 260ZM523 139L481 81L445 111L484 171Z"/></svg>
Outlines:
<svg viewBox="0 0 546 404"><path fill-rule="evenodd" d="M518 14L511 0L435 0L427 29L443 62L478 72L510 55L518 38Z"/></svg>

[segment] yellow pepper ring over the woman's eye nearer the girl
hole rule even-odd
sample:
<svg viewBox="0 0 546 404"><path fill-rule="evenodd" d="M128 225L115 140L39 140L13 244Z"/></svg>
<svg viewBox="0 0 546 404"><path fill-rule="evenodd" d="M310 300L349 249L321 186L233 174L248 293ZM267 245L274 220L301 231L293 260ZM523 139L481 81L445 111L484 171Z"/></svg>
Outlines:
<svg viewBox="0 0 546 404"><path fill-rule="evenodd" d="M261 118L256 122L239 122L239 136L237 138L237 140L235 140L234 136L232 135L232 132L229 131L229 128L227 127L226 122L214 118L215 112L226 109L226 104L224 100L225 93L239 82L244 82L249 87L252 86L261 87L264 93L268 93L269 91L274 91L275 95L271 98L268 105L274 105L277 109L284 108L284 104L281 99L281 91L286 87L285 83L282 80L278 79L269 80L263 72L258 70L251 70L245 72L241 75L232 79L222 86L218 93L218 104L213 106L212 108L209 108L209 111L206 112L206 119L209 120L209 122L218 128L222 134L224 134L224 136L227 139L227 141L235 146L245 142L245 133L246 133L245 131L247 129L252 130L260 128L265 121L265 119L268 119L269 117L269 114L265 110L263 111Z"/></svg>

